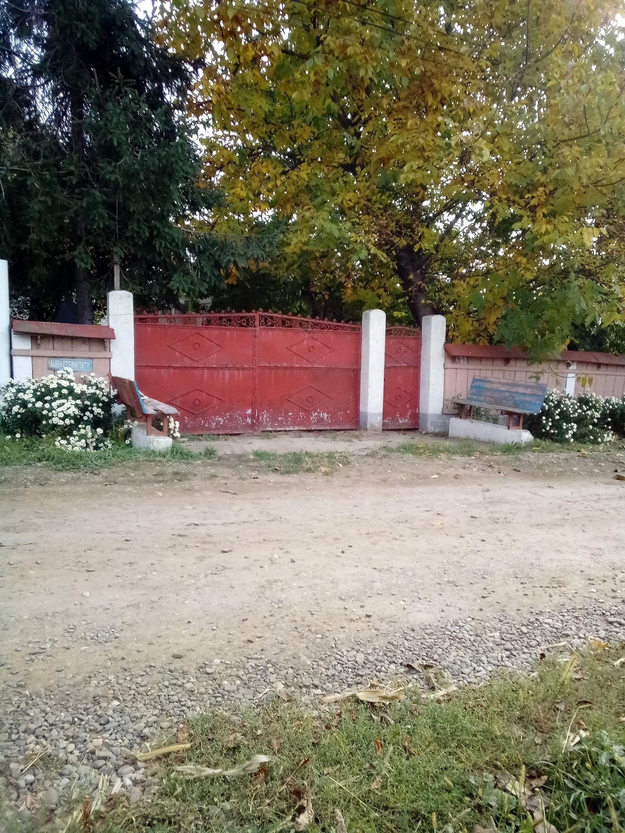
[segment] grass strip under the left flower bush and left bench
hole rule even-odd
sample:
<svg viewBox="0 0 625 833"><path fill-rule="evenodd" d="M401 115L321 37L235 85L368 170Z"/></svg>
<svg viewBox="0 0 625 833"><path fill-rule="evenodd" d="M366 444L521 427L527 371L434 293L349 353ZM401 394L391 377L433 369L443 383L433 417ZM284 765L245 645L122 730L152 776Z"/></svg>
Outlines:
<svg viewBox="0 0 625 833"><path fill-rule="evenodd" d="M166 452L143 451L124 442L113 442L102 451L64 451L54 445L52 437L26 437L7 440L0 436L0 466L32 466L41 463L57 471L80 471L122 465L132 461L197 460L193 451L174 442Z"/></svg>

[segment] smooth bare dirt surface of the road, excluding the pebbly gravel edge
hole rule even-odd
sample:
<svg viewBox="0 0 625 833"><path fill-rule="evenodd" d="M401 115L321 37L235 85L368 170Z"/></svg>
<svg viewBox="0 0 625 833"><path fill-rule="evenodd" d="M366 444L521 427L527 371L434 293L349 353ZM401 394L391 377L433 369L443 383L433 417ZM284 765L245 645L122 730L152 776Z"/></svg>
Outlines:
<svg viewBox="0 0 625 833"><path fill-rule="evenodd" d="M5 469L0 684L173 652L296 663L354 631L621 597L615 469L616 451Z"/></svg>

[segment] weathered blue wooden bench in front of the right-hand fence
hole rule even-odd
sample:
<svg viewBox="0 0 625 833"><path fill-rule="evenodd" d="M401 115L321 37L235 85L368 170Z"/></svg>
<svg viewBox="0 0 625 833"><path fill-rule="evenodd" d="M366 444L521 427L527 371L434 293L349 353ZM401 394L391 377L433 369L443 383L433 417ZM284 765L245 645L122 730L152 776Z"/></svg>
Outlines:
<svg viewBox="0 0 625 833"><path fill-rule="evenodd" d="M488 408L507 415L508 428L521 430L524 414L537 414L547 385L542 382L509 382L507 379L474 378L466 399L456 399L460 418L471 419L474 408Z"/></svg>

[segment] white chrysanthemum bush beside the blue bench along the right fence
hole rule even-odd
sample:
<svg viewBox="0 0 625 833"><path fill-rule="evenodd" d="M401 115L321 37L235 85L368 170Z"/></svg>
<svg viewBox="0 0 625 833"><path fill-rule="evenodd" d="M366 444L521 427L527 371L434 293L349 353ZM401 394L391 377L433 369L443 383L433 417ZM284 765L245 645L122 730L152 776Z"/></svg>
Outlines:
<svg viewBox="0 0 625 833"><path fill-rule="evenodd" d="M554 442L610 442L625 431L625 397L583 393L574 399L552 389L525 424L534 436Z"/></svg>

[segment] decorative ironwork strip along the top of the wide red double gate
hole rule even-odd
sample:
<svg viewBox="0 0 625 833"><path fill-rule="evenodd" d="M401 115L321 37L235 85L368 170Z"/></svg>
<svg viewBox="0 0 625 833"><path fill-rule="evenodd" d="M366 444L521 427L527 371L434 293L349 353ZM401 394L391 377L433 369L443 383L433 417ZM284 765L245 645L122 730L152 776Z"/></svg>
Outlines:
<svg viewBox="0 0 625 833"><path fill-rule="evenodd" d="M282 315L279 312L192 312L138 314L136 324L170 324L186 327L283 327L292 330L326 330L333 332L358 332L360 324L325 321L322 318L304 318Z"/></svg>

